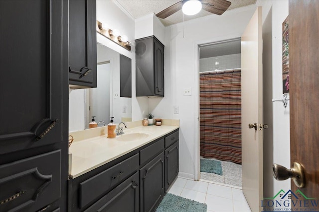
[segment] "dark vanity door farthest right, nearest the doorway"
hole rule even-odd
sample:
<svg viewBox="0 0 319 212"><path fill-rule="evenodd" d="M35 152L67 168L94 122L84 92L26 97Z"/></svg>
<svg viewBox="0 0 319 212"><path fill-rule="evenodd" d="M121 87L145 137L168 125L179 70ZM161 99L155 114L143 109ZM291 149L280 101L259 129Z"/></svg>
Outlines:
<svg viewBox="0 0 319 212"><path fill-rule="evenodd" d="M165 150L165 191L178 174L178 141Z"/></svg>

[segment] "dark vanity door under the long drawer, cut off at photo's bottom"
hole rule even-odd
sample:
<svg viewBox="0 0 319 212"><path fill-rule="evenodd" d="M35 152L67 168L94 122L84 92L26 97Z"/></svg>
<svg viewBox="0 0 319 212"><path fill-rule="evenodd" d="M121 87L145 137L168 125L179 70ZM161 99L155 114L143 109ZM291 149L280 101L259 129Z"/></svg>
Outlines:
<svg viewBox="0 0 319 212"><path fill-rule="evenodd" d="M139 212L139 173L110 191L85 212Z"/></svg>

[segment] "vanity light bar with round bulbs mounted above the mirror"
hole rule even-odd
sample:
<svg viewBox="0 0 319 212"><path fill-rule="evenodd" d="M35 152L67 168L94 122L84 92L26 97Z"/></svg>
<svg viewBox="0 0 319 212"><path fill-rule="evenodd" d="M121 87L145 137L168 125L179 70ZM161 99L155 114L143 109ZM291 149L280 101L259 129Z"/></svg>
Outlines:
<svg viewBox="0 0 319 212"><path fill-rule="evenodd" d="M128 36L120 36L120 31L118 29L110 29L107 24L102 24L100 21L96 21L96 31L103 35L104 37L110 39L114 43L124 47L125 49L131 51L131 43L128 42Z"/></svg>

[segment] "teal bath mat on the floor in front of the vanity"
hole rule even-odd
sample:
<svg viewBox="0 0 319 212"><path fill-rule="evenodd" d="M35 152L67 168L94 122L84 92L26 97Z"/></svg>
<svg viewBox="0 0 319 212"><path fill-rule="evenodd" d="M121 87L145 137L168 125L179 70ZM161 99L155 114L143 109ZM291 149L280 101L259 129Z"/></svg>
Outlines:
<svg viewBox="0 0 319 212"><path fill-rule="evenodd" d="M155 212L207 212L207 205L167 193Z"/></svg>

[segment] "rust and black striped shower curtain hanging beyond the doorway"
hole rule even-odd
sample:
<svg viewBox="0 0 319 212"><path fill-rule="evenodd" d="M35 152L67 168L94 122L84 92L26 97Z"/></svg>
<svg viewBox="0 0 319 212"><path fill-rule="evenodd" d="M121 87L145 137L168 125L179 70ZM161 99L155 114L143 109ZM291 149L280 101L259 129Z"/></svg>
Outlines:
<svg viewBox="0 0 319 212"><path fill-rule="evenodd" d="M241 164L241 71L200 75L200 155Z"/></svg>

